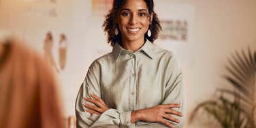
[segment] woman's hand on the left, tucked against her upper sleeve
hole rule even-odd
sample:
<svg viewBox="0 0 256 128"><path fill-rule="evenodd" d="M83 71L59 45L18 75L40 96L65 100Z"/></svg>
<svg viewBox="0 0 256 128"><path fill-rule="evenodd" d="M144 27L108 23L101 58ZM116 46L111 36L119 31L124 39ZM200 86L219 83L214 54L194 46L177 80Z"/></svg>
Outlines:
<svg viewBox="0 0 256 128"><path fill-rule="evenodd" d="M102 114L106 110L110 109L110 108L108 108L106 103L101 98L97 97L97 95L91 94L91 96L93 98L86 97L84 99L86 101L89 101L89 102L95 104L95 106L90 105L88 103L84 103L83 104L84 107L89 108L89 109L86 109L86 112L89 112L91 114Z"/></svg>

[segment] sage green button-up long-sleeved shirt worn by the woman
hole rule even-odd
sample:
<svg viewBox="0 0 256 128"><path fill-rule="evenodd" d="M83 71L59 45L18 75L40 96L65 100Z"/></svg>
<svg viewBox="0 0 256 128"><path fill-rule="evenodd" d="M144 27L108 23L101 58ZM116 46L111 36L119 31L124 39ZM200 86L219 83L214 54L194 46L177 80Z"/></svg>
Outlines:
<svg viewBox="0 0 256 128"><path fill-rule="evenodd" d="M101 115L85 111L84 97L93 93L110 108ZM82 83L76 99L77 127L166 127L161 123L130 123L131 111L166 103L181 103L176 110L184 116L185 91L180 67L170 51L147 41L136 52L115 44L112 52L96 59Z"/></svg>

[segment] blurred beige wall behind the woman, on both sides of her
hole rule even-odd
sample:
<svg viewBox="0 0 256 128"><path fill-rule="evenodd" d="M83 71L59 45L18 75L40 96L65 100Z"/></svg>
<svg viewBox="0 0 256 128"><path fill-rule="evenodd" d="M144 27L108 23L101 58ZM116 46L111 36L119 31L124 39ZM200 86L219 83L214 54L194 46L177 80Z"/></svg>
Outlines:
<svg viewBox="0 0 256 128"><path fill-rule="evenodd" d="M54 57L57 57L59 33L68 37L67 68L61 71L61 91L66 114L74 114L74 103L80 83L89 64L98 54L110 51L101 29L103 18L91 17L90 1L61 0L57 4L47 1L25 3L22 0L0 0L0 29L12 31L26 39L42 52L46 31L54 34ZM221 79L223 65L236 49L256 50L256 1L255 0L157 0L160 3L187 4L195 8L190 44L193 44L193 63L182 66L185 74L187 115L195 105L212 97L214 89L227 86ZM34 10L24 14L25 8ZM44 15L56 8L58 16ZM170 12L166 12L167 14ZM28 13L27 13L28 14ZM206 127L197 122L187 127ZM208 127L208 126L207 126Z"/></svg>

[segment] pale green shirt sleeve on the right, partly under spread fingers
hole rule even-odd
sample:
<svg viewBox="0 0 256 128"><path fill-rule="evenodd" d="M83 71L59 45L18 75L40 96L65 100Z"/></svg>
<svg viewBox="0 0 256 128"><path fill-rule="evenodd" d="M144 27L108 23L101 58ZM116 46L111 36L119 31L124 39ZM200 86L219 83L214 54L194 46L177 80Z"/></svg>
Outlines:
<svg viewBox="0 0 256 128"><path fill-rule="evenodd" d="M174 110L177 110L178 112L182 112L182 117L172 115L174 118L178 118L180 120L180 123L174 123L173 121L169 121L172 123L175 128L182 128L185 125L185 114L186 114L186 105L185 105L185 88L184 88L184 82L183 82L183 75L180 71L180 66L178 64L178 61L176 61L176 57L172 55L172 58L170 59L167 69L167 84L165 84L165 98L162 101L161 104L167 104L167 103L180 103L180 108L173 108ZM139 121L138 125L157 125L158 123L146 123L143 121ZM165 126L166 127L166 126Z"/></svg>

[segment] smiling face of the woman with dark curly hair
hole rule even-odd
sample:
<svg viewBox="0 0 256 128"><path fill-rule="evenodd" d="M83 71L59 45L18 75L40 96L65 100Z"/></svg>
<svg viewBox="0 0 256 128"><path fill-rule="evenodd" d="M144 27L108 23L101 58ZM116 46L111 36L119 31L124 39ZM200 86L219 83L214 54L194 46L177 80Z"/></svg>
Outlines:
<svg viewBox="0 0 256 128"><path fill-rule="evenodd" d="M148 14L144 0L127 0L118 12L117 20L123 41L144 42L144 34L148 31L152 16Z"/></svg>

